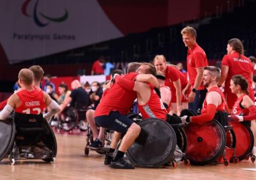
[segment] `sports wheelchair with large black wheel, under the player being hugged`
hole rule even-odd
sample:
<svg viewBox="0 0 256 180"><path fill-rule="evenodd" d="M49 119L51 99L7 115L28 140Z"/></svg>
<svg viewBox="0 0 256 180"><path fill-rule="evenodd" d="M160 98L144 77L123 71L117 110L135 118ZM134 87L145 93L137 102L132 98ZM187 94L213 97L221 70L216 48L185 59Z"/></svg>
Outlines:
<svg viewBox="0 0 256 180"><path fill-rule="evenodd" d="M132 164L144 168L164 165L176 168L177 161L183 160L189 165L183 153L187 148L187 137L182 124L170 125L157 118L136 119L135 122L141 127L141 132L126 152Z"/></svg>

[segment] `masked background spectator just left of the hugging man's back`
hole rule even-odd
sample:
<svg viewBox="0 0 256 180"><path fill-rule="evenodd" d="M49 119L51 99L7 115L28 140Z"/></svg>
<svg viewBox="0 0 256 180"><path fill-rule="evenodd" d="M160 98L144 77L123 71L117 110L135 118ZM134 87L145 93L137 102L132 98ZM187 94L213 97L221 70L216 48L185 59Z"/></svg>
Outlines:
<svg viewBox="0 0 256 180"><path fill-rule="evenodd" d="M100 103L100 99L102 96L102 88L100 86L100 83L98 81L94 81L91 86L92 93L90 94L90 99L93 104L91 104L91 107L93 110L95 110Z"/></svg>

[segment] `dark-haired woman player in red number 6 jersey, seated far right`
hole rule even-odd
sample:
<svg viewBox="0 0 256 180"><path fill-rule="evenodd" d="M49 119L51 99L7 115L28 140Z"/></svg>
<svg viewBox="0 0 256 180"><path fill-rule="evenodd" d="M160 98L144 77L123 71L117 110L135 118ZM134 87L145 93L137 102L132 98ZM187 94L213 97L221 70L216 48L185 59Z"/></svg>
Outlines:
<svg viewBox="0 0 256 180"><path fill-rule="evenodd" d="M230 80L231 92L237 96L237 100L233 105L230 122L241 122L256 119L256 107L254 102L248 96L249 84L245 77L235 75Z"/></svg>

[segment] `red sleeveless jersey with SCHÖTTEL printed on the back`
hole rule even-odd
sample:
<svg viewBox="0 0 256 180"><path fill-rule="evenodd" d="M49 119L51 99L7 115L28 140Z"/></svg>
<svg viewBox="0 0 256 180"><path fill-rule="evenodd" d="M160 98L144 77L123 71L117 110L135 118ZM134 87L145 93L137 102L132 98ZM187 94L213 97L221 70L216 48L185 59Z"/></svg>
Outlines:
<svg viewBox="0 0 256 180"><path fill-rule="evenodd" d="M21 105L15 108L15 112L23 114L40 114L45 108L44 93L33 89L28 91L26 89L16 93L19 96Z"/></svg>

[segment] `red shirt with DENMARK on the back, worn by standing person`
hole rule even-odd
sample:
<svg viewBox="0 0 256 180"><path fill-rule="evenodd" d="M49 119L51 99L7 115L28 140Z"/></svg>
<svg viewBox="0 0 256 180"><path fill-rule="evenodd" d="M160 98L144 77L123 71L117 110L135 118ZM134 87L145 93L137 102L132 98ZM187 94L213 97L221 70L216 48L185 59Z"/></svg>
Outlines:
<svg viewBox="0 0 256 180"><path fill-rule="evenodd" d="M249 58L246 58L246 56L244 56L243 54L239 59L239 53L235 52L233 54L227 54L223 57L221 66L223 65L229 67L228 75L225 80L225 91L224 91L224 94L226 95L226 98L228 100L227 103L228 103L229 109L233 107L237 99L237 96L231 93L231 89L229 88L231 77L235 75L242 75L245 77L245 79L248 82L248 91L250 93L249 96L254 102L254 93L252 89L252 77L251 77L251 73L253 72L253 67L251 64L251 60Z"/></svg>

